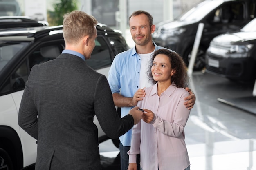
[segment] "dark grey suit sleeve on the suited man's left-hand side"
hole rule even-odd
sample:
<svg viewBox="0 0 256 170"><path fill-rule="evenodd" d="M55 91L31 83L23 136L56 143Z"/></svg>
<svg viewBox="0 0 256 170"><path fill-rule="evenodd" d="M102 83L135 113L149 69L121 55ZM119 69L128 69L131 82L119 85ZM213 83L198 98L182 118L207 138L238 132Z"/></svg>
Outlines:
<svg viewBox="0 0 256 170"><path fill-rule="evenodd" d="M38 137L37 115L38 111L31 97L28 80L26 82L26 86L20 103L18 113L18 124L23 130L25 130L29 135L31 135L35 139L37 139Z"/></svg>

